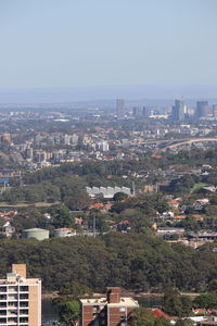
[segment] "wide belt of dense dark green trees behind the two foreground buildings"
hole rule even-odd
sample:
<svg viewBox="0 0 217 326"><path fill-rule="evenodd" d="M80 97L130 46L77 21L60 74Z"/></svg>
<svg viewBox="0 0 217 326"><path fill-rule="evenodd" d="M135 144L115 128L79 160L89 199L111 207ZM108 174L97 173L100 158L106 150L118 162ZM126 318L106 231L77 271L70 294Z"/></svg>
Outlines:
<svg viewBox="0 0 217 326"><path fill-rule="evenodd" d="M73 237L44 241L0 241L3 277L12 263L26 263L28 274L41 277L46 290L78 281L93 290L120 286L162 291L168 285L181 290L206 290L217 278L217 256L210 250L170 246L154 236L111 233L99 238Z"/></svg>

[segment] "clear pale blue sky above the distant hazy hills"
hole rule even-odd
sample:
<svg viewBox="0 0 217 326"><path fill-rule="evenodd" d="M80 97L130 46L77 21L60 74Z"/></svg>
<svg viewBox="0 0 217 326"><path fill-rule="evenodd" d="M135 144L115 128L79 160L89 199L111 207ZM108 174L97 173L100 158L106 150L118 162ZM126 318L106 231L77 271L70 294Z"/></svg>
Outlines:
<svg viewBox="0 0 217 326"><path fill-rule="evenodd" d="M0 88L217 85L217 0L0 0Z"/></svg>

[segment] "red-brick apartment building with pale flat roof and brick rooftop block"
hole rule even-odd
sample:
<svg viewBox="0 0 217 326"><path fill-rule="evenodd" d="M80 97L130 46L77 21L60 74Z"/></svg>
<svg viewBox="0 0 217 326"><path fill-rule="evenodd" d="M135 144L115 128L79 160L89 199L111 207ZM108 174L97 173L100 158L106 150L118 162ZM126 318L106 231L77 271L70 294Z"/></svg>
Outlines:
<svg viewBox="0 0 217 326"><path fill-rule="evenodd" d="M107 288L106 298L81 299L81 326L125 326L129 313L139 306L132 298L122 297L120 288Z"/></svg>

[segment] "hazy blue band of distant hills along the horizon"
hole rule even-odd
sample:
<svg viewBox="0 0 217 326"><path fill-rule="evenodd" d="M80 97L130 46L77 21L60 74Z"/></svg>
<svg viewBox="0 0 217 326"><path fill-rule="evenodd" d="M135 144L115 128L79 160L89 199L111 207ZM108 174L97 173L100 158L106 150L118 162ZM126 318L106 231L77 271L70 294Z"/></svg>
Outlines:
<svg viewBox="0 0 217 326"><path fill-rule="evenodd" d="M144 104L155 101L175 99L196 101L217 99L217 86L101 86L101 87L68 87L68 88L0 88L0 103L67 103L115 101L138 101ZM210 101L212 102L212 101Z"/></svg>

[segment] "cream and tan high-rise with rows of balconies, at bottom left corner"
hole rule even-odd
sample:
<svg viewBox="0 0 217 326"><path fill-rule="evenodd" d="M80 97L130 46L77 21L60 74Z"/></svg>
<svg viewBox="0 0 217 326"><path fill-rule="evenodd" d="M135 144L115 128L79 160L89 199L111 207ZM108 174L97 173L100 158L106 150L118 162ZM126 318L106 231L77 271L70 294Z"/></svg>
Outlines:
<svg viewBox="0 0 217 326"><path fill-rule="evenodd" d="M41 325L41 280L26 278L25 264L13 264L0 279L0 325Z"/></svg>

